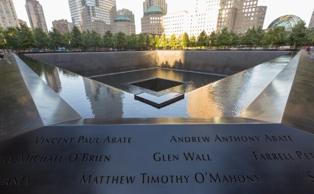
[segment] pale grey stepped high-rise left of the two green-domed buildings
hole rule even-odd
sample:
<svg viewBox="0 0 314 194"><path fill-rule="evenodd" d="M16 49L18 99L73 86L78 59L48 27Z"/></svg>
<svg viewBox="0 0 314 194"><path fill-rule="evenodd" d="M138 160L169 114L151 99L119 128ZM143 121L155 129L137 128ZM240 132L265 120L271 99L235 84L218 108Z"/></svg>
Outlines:
<svg viewBox="0 0 314 194"><path fill-rule="evenodd" d="M116 18L115 0L68 0L72 22L82 31L103 34Z"/></svg>

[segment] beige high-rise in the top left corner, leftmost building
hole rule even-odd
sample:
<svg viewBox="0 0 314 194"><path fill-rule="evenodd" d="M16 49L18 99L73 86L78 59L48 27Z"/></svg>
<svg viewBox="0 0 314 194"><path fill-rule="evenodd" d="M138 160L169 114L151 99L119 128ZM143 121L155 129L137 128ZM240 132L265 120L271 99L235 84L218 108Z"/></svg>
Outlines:
<svg viewBox="0 0 314 194"><path fill-rule="evenodd" d="M18 26L17 15L12 0L2 0L0 1L0 26Z"/></svg>

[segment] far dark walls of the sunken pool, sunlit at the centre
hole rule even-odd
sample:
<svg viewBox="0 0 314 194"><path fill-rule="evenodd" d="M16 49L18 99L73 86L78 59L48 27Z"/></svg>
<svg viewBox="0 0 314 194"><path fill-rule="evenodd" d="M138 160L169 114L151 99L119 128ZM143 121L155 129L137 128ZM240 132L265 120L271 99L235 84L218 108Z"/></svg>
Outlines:
<svg viewBox="0 0 314 194"><path fill-rule="evenodd" d="M154 67L232 75L291 51L130 51L25 54L35 60L91 77Z"/></svg>

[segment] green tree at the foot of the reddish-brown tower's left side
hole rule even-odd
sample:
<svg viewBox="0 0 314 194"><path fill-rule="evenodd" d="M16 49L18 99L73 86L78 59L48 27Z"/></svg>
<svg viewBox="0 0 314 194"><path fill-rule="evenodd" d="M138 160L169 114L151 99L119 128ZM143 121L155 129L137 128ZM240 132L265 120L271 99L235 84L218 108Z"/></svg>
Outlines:
<svg viewBox="0 0 314 194"><path fill-rule="evenodd" d="M18 29L18 28L17 28ZM36 46L36 39L34 33L30 27L25 24L21 24L18 32L18 37L20 41L20 47L25 50Z"/></svg>

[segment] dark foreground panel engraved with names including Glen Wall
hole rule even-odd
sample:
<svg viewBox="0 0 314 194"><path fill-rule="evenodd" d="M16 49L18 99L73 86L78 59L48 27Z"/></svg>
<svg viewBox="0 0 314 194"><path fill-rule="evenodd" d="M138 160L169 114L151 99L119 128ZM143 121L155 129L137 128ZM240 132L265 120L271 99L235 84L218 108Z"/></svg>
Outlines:
<svg viewBox="0 0 314 194"><path fill-rule="evenodd" d="M43 127L0 142L0 192L311 193L313 140L280 124Z"/></svg>

